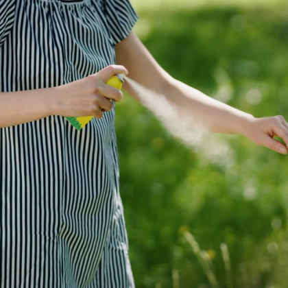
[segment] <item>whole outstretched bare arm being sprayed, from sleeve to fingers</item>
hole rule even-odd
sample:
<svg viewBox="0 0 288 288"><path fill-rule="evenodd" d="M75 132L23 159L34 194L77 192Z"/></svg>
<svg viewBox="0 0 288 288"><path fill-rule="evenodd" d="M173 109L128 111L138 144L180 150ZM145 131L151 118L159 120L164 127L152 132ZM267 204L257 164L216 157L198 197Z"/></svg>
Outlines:
<svg viewBox="0 0 288 288"><path fill-rule="evenodd" d="M134 32L117 44L115 51L117 64L128 69L132 80L164 95L178 112L191 117L191 125L198 123L210 132L243 134L256 144L287 154L285 145L273 139L274 136L280 136L288 145L288 124L282 116L255 118L173 79L160 67ZM123 88L141 101L137 91L128 82Z"/></svg>

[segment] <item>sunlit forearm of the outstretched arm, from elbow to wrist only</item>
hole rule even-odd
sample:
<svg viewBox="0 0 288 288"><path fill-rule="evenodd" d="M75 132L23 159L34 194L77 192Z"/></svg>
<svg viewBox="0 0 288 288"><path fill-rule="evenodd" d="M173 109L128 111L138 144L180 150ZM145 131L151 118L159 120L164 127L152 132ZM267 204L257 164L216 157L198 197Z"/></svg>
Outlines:
<svg viewBox="0 0 288 288"><path fill-rule="evenodd" d="M178 115L190 121L192 128L224 134L245 134L246 125L254 117L228 106L221 101L178 80L170 80L163 88L163 95L174 104Z"/></svg>

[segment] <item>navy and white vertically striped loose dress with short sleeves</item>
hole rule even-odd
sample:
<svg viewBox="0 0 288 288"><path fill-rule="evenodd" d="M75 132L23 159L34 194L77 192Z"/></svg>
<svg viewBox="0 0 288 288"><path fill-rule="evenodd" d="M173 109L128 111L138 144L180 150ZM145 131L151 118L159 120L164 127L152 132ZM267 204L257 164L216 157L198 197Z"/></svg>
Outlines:
<svg viewBox="0 0 288 288"><path fill-rule="evenodd" d="M114 64L136 19L129 0L0 0L0 91ZM134 287L114 118L113 107L80 131L56 115L0 129L1 287Z"/></svg>

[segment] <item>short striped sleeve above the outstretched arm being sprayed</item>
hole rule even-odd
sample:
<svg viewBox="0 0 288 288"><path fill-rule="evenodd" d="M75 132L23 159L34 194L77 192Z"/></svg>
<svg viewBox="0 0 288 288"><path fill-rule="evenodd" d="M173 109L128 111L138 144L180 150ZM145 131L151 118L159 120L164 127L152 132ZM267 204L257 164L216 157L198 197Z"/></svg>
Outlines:
<svg viewBox="0 0 288 288"><path fill-rule="evenodd" d="M130 0L103 0L106 25L114 45L126 38L139 18Z"/></svg>

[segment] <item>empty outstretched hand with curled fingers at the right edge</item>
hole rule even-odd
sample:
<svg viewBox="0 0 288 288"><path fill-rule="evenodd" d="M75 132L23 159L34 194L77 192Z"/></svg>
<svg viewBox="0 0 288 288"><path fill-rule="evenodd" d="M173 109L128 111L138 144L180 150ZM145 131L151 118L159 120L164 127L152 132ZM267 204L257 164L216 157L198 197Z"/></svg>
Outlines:
<svg viewBox="0 0 288 288"><path fill-rule="evenodd" d="M288 123L281 115L250 119L245 136L258 145L281 154L287 154ZM274 139L275 136L283 139L286 145Z"/></svg>

